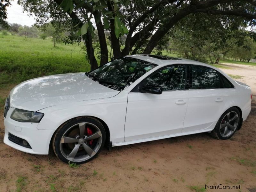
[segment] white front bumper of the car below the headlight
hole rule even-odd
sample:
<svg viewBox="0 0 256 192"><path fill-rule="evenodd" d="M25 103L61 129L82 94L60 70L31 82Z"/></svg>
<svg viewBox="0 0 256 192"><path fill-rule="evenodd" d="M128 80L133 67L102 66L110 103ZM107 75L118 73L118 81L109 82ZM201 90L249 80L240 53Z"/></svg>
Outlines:
<svg viewBox="0 0 256 192"><path fill-rule="evenodd" d="M10 108L6 118L4 118L4 143L12 148L32 154L47 155L49 153L49 145L54 130L38 130L39 123L23 123L10 118L10 114L14 108ZM26 140L31 148L23 147L9 140L8 135L19 137Z"/></svg>

